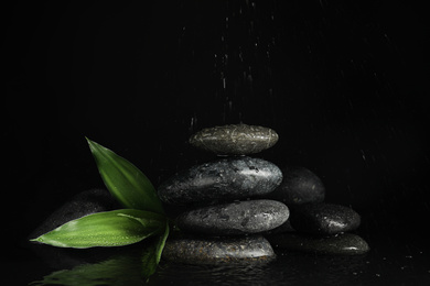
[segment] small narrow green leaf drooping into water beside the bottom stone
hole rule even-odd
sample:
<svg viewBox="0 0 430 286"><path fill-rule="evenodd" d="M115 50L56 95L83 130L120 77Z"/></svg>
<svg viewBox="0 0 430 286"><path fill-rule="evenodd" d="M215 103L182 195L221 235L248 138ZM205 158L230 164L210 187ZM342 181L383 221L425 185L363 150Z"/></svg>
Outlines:
<svg viewBox="0 0 430 286"><path fill-rule="evenodd" d="M165 222L163 234L157 238L157 241L142 254L142 274L146 278L149 278L155 273L157 266L160 263L161 254L165 245L165 241L169 237L169 223Z"/></svg>

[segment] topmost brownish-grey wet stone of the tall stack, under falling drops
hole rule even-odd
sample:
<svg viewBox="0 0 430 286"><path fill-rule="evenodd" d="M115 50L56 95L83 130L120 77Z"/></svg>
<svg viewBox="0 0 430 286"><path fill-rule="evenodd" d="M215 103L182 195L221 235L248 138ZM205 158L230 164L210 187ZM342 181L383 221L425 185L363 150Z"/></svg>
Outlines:
<svg viewBox="0 0 430 286"><path fill-rule="evenodd" d="M190 138L190 144L218 155L247 155L273 146L278 139L269 128L232 124L203 129Z"/></svg>

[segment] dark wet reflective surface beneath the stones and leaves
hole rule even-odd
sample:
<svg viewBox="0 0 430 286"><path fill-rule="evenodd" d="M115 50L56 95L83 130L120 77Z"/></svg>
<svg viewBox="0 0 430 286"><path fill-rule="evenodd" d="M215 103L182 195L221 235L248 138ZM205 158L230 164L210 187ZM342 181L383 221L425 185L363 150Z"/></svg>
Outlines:
<svg viewBox="0 0 430 286"><path fill-rule="evenodd" d="M405 244L393 239L379 238L377 241L370 241L370 244L372 250L368 254L351 256L276 250L277 260L267 264L189 265L164 261L148 284L422 285L430 282L430 252L420 249L418 246L420 243ZM34 267L40 277L32 282L34 285L142 285L147 279L141 275L139 263L141 248L143 246L133 245L65 252L54 248L41 248L37 250L40 258L34 260L34 265L44 262L50 266L43 271L40 265Z"/></svg>

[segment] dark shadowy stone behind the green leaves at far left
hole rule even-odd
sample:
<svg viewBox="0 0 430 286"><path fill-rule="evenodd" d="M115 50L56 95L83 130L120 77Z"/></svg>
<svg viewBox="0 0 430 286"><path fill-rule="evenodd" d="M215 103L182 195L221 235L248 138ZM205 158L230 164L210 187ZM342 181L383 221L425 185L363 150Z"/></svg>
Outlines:
<svg viewBox="0 0 430 286"><path fill-rule="evenodd" d="M84 190L55 210L36 230L30 234L29 239L39 238L40 235L52 231L71 220L117 208L119 208L119 205L109 191L105 189Z"/></svg>

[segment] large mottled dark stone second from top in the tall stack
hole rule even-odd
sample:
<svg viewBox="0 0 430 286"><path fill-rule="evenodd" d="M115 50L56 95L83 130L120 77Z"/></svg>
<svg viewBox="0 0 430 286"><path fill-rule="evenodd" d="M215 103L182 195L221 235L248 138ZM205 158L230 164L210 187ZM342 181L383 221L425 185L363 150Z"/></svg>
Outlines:
<svg viewBox="0 0 430 286"><path fill-rule="evenodd" d="M213 204L266 195L282 180L275 164L251 157L224 158L174 175L158 188L170 205Z"/></svg>

